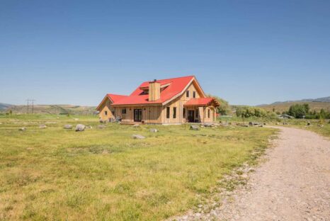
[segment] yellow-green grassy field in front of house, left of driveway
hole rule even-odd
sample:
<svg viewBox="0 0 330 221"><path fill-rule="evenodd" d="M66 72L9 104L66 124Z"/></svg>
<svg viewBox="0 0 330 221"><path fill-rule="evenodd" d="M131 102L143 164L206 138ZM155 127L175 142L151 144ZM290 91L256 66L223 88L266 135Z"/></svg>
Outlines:
<svg viewBox="0 0 330 221"><path fill-rule="evenodd" d="M166 219L203 203L224 174L255 162L254 152L276 132L192 131L185 125L98 129L96 117L58 115L2 115L0 123L0 220ZM93 128L64 130L67 123ZM27 130L18 131L23 126Z"/></svg>

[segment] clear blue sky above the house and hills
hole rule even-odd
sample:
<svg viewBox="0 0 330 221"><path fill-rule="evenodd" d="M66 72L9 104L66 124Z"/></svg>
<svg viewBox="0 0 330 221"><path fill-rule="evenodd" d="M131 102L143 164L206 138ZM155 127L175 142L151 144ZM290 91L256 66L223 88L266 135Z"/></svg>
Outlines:
<svg viewBox="0 0 330 221"><path fill-rule="evenodd" d="M0 1L1 103L186 75L232 104L330 96L330 1Z"/></svg>

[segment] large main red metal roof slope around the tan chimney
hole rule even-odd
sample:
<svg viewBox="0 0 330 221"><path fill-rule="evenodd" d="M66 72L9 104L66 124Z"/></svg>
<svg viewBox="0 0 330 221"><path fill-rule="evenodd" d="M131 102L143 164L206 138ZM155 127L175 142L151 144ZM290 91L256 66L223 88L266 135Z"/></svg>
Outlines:
<svg viewBox="0 0 330 221"><path fill-rule="evenodd" d="M144 94L143 88L149 86L149 81L144 81L130 96L123 96L118 101L113 101L113 106L116 105L132 105L132 104L153 104L153 103L164 103L169 101L174 96L180 94L183 89L188 86L190 81L193 80L193 76L177 77L172 79L157 80L161 85L169 84L169 86L161 89L161 96L157 101L148 101L149 95ZM142 89L141 89L142 88ZM112 98L112 96L110 96Z"/></svg>

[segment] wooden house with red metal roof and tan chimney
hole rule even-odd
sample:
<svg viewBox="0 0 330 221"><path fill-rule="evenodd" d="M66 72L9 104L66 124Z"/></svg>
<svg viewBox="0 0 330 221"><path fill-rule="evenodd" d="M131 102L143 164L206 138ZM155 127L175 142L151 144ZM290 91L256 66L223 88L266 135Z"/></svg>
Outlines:
<svg viewBox="0 0 330 221"><path fill-rule="evenodd" d="M181 124L211 123L219 105L194 76L187 76L145 81L129 96L107 94L96 109L102 121Z"/></svg>

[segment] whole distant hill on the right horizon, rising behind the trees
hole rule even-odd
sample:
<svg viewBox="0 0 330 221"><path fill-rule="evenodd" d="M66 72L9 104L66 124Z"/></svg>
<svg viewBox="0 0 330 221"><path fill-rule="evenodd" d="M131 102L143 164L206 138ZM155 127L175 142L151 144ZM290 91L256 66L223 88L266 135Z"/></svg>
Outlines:
<svg viewBox="0 0 330 221"><path fill-rule="evenodd" d="M275 112L282 113L283 111L288 111L290 106L295 103L308 103L311 111L320 111L322 108L330 111L330 96L315 99L302 99L299 101L278 101L271 104L258 105L258 107L266 109L266 111L275 110Z"/></svg>

